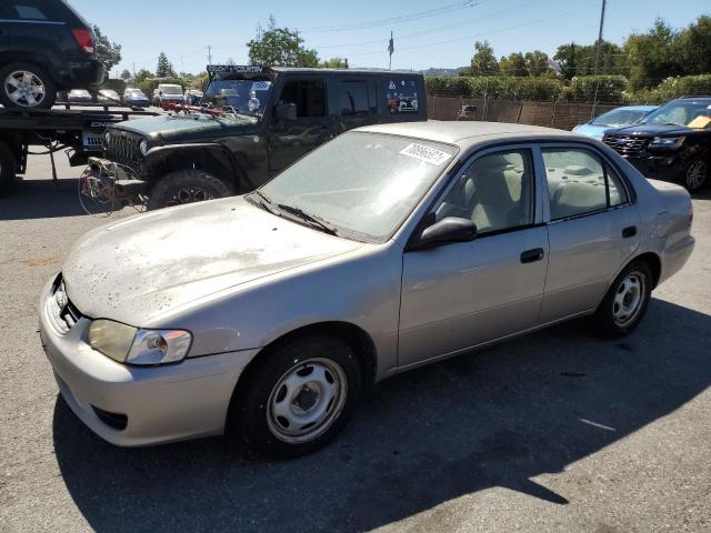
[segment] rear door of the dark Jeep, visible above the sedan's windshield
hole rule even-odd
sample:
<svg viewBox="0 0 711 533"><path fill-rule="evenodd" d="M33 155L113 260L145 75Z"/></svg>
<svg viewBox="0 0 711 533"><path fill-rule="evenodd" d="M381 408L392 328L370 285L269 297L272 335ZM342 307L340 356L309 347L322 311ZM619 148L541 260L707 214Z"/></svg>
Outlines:
<svg viewBox="0 0 711 533"><path fill-rule="evenodd" d="M370 77L336 77L332 83L338 133L379 122L375 80Z"/></svg>

